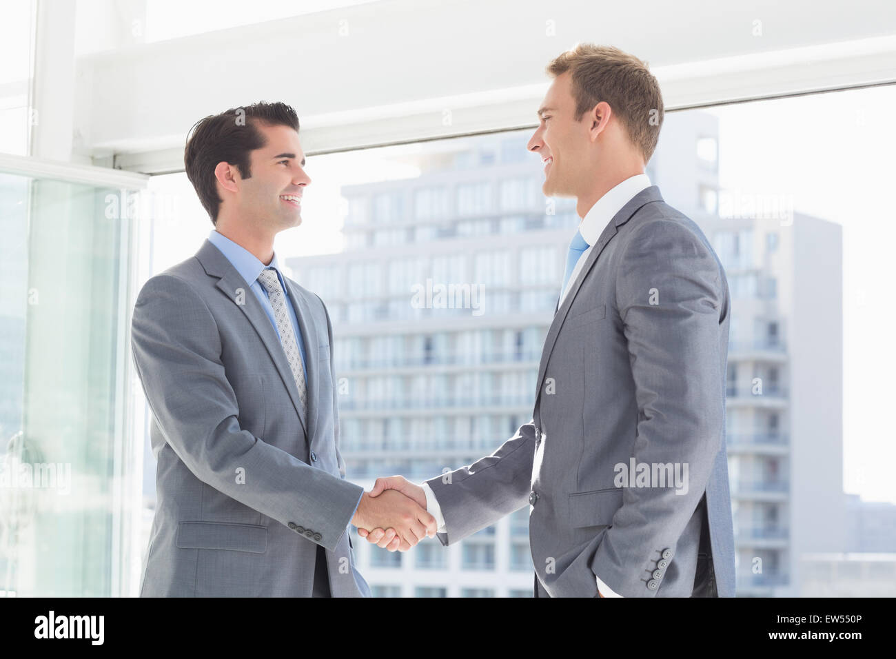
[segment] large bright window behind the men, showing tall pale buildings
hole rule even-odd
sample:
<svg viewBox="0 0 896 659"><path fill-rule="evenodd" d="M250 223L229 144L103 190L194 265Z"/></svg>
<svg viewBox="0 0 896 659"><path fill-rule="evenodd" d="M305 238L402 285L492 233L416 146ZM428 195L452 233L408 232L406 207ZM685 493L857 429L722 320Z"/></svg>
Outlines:
<svg viewBox="0 0 896 659"><path fill-rule="evenodd" d="M817 122L834 101L866 118L848 122L822 153ZM739 594L799 594L800 555L831 543L861 551L844 489L896 499L874 472L878 461L863 457L892 450L877 443L874 421L896 368L886 279L876 276L896 244L876 192L887 187L896 143L874 132L885 122L878 108L892 101L890 87L668 113L650 160L651 182L698 224L727 273ZM280 234L277 250L331 311L349 479L434 477L488 455L530 418L580 218L574 200L542 195L529 137L308 159L303 224ZM521 157L511 157L514 148ZM364 166L349 167L355 160ZM183 175L167 179L178 201L164 205L180 211L159 221L158 268L193 254L211 229L192 190L175 192ZM833 516L842 524L831 526ZM459 595L456 570L495 572L505 585L495 594L530 588L527 521L523 507L487 542L433 545L402 564L402 592ZM362 572L397 566L363 542L356 549ZM754 557L766 568L758 576ZM414 591L418 570L427 585ZM378 592L392 592L397 570L389 572L372 577Z"/></svg>

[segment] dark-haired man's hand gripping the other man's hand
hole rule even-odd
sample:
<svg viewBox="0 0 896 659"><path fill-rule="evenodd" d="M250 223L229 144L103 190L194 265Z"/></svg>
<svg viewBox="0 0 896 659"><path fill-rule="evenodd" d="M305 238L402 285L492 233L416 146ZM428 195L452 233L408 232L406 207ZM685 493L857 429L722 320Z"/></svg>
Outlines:
<svg viewBox="0 0 896 659"><path fill-rule="evenodd" d="M385 526L392 532L386 543L394 545L395 549L408 551L427 535L435 535L435 517L426 512L426 496L421 507L401 491L390 488L390 491L383 492L383 489L375 485L373 490L361 495L358 510L351 519L361 537L366 537L367 532L374 529L382 531Z"/></svg>

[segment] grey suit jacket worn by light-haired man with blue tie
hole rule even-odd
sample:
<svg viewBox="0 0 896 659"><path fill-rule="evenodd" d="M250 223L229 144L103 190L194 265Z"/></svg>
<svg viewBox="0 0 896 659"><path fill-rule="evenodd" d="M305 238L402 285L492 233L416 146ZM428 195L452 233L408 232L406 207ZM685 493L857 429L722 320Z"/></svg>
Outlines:
<svg viewBox="0 0 896 659"><path fill-rule="evenodd" d="M733 596L729 316L699 227L657 186L635 195L557 309L532 420L492 455L426 481L441 542L528 502L539 594L594 597L597 576L625 597ZM632 459L635 473L686 464L686 492L617 480Z"/></svg>

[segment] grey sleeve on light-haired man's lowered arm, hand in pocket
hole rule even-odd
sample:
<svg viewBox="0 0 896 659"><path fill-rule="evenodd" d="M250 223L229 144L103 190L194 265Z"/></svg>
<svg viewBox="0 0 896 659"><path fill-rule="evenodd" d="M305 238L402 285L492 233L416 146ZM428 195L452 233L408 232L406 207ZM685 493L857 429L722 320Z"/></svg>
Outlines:
<svg viewBox="0 0 896 659"><path fill-rule="evenodd" d="M616 304L638 405L635 464L647 464L651 473L681 464L685 476L685 487L624 488L623 505L591 562L595 575L624 597L656 594L721 448L725 364L719 349L728 341L719 325L722 277L711 248L670 220L635 230L618 264Z"/></svg>

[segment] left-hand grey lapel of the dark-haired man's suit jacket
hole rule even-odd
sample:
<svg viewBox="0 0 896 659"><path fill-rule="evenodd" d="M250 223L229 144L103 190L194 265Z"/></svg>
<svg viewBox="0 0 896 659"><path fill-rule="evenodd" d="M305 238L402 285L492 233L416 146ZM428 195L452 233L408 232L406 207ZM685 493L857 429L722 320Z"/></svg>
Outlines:
<svg viewBox="0 0 896 659"><path fill-rule="evenodd" d="M271 325L268 316L264 313L261 302L255 298L254 292L246 286L246 280L243 279L240 273L237 273L237 269L233 264L228 261L226 256L221 254L220 249L215 247L208 238L205 239L205 242L202 243L202 247L196 252L196 258L202 264L206 273L212 277L219 278L216 284L218 289L243 312L255 328L255 332L262 340L264 349L271 355L271 360L274 362L274 366L277 367L277 371L280 373L280 379L283 381L283 386L286 386L287 391L289 391L289 398L296 408L298 419L302 423L302 429L307 433L308 422L305 418L305 413L302 411L301 401L298 399L296 378L292 376L292 369L289 368L289 361L286 359L286 353L283 351L283 346L280 344L280 337L277 335L277 331L274 329L273 325ZM242 290L242 294L239 293L240 290ZM240 301L242 304L238 303ZM299 316L298 309L296 309L296 316ZM311 351L308 350L306 343L306 353L310 354L310 352ZM306 379L310 378L306 377ZM308 406L310 408L310 388L308 391Z"/></svg>

